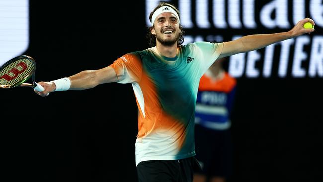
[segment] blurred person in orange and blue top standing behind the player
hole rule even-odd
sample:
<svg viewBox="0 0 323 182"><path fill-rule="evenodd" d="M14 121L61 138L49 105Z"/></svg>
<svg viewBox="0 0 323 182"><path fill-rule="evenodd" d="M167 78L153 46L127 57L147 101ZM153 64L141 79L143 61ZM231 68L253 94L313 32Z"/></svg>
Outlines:
<svg viewBox="0 0 323 182"><path fill-rule="evenodd" d="M231 109L236 79L214 62L200 80L195 112L195 150L201 170L193 182L226 182L232 174Z"/></svg>

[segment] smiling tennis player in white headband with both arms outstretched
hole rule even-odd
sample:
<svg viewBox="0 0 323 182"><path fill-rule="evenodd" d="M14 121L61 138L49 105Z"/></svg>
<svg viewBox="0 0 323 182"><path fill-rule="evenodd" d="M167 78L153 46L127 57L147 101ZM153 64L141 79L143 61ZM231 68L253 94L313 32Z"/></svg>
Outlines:
<svg viewBox="0 0 323 182"><path fill-rule="evenodd" d="M196 164L195 104L202 75L219 58L313 32L303 24L314 21L303 19L288 32L182 46L183 28L176 7L162 2L149 19L154 47L125 54L99 70L39 82L45 90L35 92L47 96L53 91L84 90L109 82L131 83L139 110L135 143L139 182L191 182Z"/></svg>

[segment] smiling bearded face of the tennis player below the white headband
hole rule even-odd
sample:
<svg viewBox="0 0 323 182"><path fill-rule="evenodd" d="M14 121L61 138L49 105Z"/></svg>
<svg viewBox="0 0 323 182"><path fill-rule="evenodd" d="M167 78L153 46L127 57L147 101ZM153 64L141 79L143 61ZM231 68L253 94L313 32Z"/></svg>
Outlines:
<svg viewBox="0 0 323 182"><path fill-rule="evenodd" d="M156 43L172 46L177 43L179 36L179 23L176 16L170 12L161 13L156 17L151 33L156 36Z"/></svg>

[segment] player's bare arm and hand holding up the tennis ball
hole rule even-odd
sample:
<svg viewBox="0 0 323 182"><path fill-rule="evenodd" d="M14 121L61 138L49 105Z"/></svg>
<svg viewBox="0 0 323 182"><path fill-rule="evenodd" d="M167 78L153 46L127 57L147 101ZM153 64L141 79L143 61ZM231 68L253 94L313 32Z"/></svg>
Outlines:
<svg viewBox="0 0 323 182"><path fill-rule="evenodd" d="M311 33L313 28L305 29L303 25L307 22L315 25L314 21L310 18L305 18L299 21L293 29L288 32L273 33L273 34L258 34L247 35L237 40L225 42L223 44L222 53L219 58L231 56L237 53L249 52L257 49L261 49L270 44L280 42L286 39L294 38L305 33Z"/></svg>

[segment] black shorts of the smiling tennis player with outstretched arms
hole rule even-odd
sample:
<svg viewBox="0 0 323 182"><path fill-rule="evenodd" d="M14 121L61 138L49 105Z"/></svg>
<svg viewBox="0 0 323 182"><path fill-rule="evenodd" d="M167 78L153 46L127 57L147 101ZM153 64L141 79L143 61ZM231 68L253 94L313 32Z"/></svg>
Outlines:
<svg viewBox="0 0 323 182"><path fill-rule="evenodd" d="M137 165L139 182L192 182L197 167L194 157L179 160L150 160Z"/></svg>

